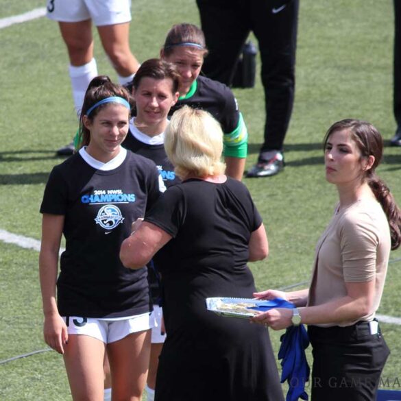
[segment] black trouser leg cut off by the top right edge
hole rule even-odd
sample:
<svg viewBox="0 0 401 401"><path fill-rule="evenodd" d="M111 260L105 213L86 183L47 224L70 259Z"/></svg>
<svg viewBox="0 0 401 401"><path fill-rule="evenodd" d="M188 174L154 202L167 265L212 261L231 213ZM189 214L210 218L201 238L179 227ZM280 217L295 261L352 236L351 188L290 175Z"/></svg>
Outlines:
<svg viewBox="0 0 401 401"><path fill-rule="evenodd" d="M397 129L401 130L401 3L394 1L393 111Z"/></svg>

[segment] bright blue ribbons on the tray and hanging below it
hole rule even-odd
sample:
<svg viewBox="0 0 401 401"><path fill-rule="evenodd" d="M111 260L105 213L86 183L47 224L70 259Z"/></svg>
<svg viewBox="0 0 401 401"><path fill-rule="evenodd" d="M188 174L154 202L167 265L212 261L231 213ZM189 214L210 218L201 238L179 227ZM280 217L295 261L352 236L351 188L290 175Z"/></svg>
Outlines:
<svg viewBox="0 0 401 401"><path fill-rule="evenodd" d="M265 312L273 308L295 308L294 304L282 298L260 301L250 309ZM289 326L284 335L280 337L281 345L278 351L278 359L281 360L281 382L287 380L289 390L286 401L297 401L299 398L308 400L305 391L305 383L309 380L309 365L306 361L305 350L308 348L308 333L303 324L300 326Z"/></svg>

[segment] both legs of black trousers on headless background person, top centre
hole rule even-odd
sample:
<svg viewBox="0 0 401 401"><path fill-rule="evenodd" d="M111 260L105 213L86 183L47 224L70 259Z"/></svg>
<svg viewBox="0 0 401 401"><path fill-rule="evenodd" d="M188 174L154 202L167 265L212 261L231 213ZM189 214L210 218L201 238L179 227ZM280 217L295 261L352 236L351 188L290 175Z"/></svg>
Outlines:
<svg viewBox="0 0 401 401"><path fill-rule="evenodd" d="M260 151L282 150L294 101L299 0L197 0L197 6L210 52L203 72L212 80L232 83L243 44L254 32L265 89Z"/></svg>

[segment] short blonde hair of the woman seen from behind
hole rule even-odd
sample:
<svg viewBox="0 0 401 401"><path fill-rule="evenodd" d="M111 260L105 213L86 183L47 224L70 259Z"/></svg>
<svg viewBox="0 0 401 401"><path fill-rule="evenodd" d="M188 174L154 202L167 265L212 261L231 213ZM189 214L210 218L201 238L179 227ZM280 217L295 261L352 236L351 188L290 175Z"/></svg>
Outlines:
<svg viewBox="0 0 401 401"><path fill-rule="evenodd" d="M165 132L167 156L180 178L206 177L224 173L221 162L223 131L212 115L184 106L174 112Z"/></svg>

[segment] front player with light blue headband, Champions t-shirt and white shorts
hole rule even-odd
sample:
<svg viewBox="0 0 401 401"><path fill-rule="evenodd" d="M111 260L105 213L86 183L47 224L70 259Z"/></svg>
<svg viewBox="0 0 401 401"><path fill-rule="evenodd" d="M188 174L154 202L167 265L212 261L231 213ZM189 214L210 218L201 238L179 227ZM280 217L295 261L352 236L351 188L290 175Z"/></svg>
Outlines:
<svg viewBox="0 0 401 401"><path fill-rule="evenodd" d="M45 341L64 356L74 400L103 400L106 351L117 398L140 400L145 386L151 328L147 270L127 271L119 247L132 221L158 198L160 175L154 162L121 147L129 99L108 77L91 82L81 117L84 146L54 167L40 207ZM66 250L56 304L62 234Z"/></svg>

